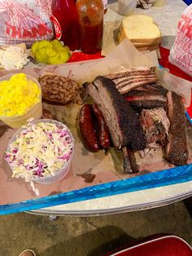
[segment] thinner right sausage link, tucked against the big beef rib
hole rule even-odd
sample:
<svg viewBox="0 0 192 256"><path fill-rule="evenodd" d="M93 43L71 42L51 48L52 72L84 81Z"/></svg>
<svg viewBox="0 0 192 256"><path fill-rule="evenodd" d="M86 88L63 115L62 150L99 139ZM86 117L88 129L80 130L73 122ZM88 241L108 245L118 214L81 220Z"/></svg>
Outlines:
<svg viewBox="0 0 192 256"><path fill-rule="evenodd" d="M107 127L106 121L103 117L103 113L99 110L97 104L92 105L94 111L94 116L98 121L98 133L99 133L99 143L102 148L110 147L110 133Z"/></svg>

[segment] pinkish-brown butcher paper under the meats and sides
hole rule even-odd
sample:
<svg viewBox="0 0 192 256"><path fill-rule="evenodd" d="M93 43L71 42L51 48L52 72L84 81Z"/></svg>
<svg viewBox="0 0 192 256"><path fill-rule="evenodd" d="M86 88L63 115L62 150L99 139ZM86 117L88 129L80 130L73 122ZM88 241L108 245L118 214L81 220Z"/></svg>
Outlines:
<svg viewBox="0 0 192 256"><path fill-rule="evenodd" d="M129 58L127 57L129 56ZM104 60L98 60L94 62L88 62L85 64L65 64L59 66L46 66L43 68L25 68L25 73L33 74L39 77L41 74L46 72L58 73L66 77L72 77L73 79L81 82L92 81L94 77L102 74L110 74L111 71L119 68L118 71L122 71L125 68L131 68L133 66L152 64L151 60L148 60L146 56L137 52L134 47L129 43L129 41L123 42L120 46L116 48L116 51L108 55ZM4 72L3 72L4 73ZM190 102L190 91L191 85L188 82L183 81L178 77L169 77L168 73L160 73L159 77L164 77L165 81L168 81L168 86L172 87L174 90L174 85L177 83L182 84L182 87L177 86L177 92L185 96L186 105ZM161 78L160 78L161 79ZM161 82L164 83L163 80ZM172 85L171 85L172 84ZM187 88L187 89L186 89ZM39 185L40 196L49 196L54 193L68 192L74 189L80 189L89 187L91 185L96 185L99 183L107 183L111 181L116 181L119 179L126 179L133 177L135 174L123 174L123 157L120 151L111 148L110 152L106 155L105 152L99 151L96 153L88 152L82 145L81 140L76 134L76 115L81 108L77 104L48 104L43 103L44 117L57 119L63 121L71 130L75 137L75 156L72 161L72 169L70 170L68 176L63 179L63 181L52 184L52 185ZM46 116L45 116L46 115ZM190 152L190 157L188 163L192 162L192 145L191 145L191 130L189 128L187 133L187 142ZM2 197L1 204L13 203L18 201L25 201L28 199L33 199L33 192L30 190L28 184L24 183L20 179L11 179L11 170L8 169L7 163L3 159L4 150L7 148L8 140L14 130L7 130L1 137L1 186ZM148 155L146 158L142 159L138 153L136 153L137 165L139 166L139 173L136 175L146 174L147 172L155 170L164 170L173 167L168 161L164 161L163 154L160 149L157 150L154 156ZM94 178L91 183L88 183L88 179L85 179L85 174L93 174ZM13 192L15 191L15 192Z"/></svg>

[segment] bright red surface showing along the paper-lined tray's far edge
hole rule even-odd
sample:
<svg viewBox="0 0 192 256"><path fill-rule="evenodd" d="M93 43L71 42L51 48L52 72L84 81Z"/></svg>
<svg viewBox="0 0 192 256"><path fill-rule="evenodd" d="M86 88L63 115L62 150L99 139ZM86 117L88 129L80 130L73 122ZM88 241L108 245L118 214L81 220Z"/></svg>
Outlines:
<svg viewBox="0 0 192 256"><path fill-rule="evenodd" d="M160 55L161 59L159 59L159 64L162 65L164 68L168 68L169 72L172 73L173 75L177 77L181 77L185 80L188 80L192 82L192 77L187 75L185 72L183 72L180 68L177 68L175 65L171 64L168 61L168 55L169 55L169 50L160 46ZM103 58L101 55L101 52L98 52L94 55L88 55L82 52L73 52L71 59L68 62L76 62L76 61L83 61L83 60L96 60ZM187 112L189 113L190 117L192 118L192 90L191 90L191 102L190 102L190 107L187 108Z"/></svg>

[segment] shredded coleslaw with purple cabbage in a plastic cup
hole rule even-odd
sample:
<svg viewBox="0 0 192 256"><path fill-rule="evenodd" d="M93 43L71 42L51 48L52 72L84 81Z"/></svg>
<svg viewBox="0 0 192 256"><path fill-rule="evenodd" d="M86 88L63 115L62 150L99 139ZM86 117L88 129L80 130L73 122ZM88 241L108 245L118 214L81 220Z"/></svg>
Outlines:
<svg viewBox="0 0 192 256"><path fill-rule="evenodd" d="M29 121L6 152L12 177L34 178L54 176L72 155L72 136L63 124Z"/></svg>

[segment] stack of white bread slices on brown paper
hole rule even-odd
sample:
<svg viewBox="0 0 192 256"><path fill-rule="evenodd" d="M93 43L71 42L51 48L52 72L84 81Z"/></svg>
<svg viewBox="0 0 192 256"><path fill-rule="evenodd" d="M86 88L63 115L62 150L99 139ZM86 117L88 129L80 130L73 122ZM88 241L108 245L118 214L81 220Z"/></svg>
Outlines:
<svg viewBox="0 0 192 256"><path fill-rule="evenodd" d="M151 16L138 14L122 20L117 40L120 43L125 38L129 38L138 51L147 51L159 47L161 35Z"/></svg>

